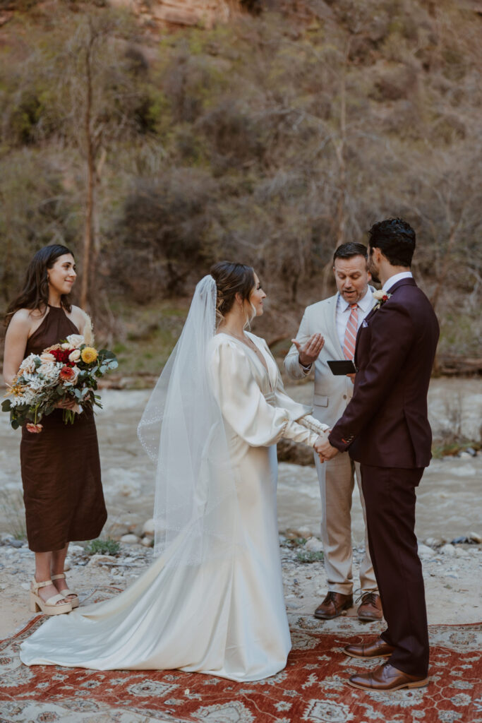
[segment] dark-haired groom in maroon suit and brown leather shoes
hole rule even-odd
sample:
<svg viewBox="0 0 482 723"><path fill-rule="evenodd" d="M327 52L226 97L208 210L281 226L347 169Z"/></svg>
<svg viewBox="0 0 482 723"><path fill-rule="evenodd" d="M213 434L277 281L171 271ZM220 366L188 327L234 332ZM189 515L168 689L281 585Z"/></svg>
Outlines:
<svg viewBox="0 0 482 723"><path fill-rule="evenodd" d="M389 658L348 682L399 690L426 685L429 667L415 489L431 458L427 391L439 325L410 273L413 228L389 218L369 236L369 271L384 296L358 331L353 398L320 449L324 460L349 450L361 463L370 555L388 626L372 643L345 649L356 658Z"/></svg>

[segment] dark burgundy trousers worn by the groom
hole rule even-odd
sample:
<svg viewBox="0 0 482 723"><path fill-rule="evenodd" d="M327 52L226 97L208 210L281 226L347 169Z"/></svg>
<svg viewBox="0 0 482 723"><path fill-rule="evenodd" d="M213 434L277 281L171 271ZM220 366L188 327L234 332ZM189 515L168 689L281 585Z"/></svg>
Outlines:
<svg viewBox="0 0 482 723"><path fill-rule="evenodd" d="M429 632L415 535L415 488L422 474L423 468L361 465L371 562L388 626L382 638L395 648L389 662L426 676Z"/></svg>

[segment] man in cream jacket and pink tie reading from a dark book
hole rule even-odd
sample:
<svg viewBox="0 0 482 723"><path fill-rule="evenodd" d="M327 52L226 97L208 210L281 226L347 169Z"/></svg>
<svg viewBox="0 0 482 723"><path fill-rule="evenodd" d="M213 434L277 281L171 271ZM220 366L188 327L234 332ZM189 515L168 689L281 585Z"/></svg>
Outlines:
<svg viewBox="0 0 482 723"><path fill-rule="evenodd" d="M374 306L374 288L369 286L367 249L363 244L339 246L333 257L337 293L311 304L285 358L285 369L293 379L304 379L314 369L313 415L333 427L353 395L353 379L334 375L328 360L353 359L358 328ZM381 620L382 604L369 554L366 513L361 490L360 465L348 455L338 454L317 466L322 500L321 537L328 591L314 612L330 620L353 606L353 555L351 501L355 479L365 522L365 553L360 565L360 620Z"/></svg>

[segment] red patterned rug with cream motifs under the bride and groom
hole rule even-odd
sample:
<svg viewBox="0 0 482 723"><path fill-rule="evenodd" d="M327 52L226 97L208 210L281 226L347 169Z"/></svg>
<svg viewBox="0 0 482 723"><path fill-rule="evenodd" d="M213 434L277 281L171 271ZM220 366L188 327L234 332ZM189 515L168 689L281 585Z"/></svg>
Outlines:
<svg viewBox="0 0 482 723"><path fill-rule="evenodd" d="M346 685L376 665L343 653L348 640L377 632L361 633L348 619L326 631L314 618L292 617L287 667L256 683L178 670L29 668L18 649L41 621L0 643L0 723L482 723L481 625L431 625L429 685L387 694Z"/></svg>

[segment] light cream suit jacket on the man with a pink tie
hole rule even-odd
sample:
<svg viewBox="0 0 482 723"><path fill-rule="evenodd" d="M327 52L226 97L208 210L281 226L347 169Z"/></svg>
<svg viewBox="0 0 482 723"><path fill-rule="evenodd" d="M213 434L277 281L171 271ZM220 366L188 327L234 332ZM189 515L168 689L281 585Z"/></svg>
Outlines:
<svg viewBox="0 0 482 723"><path fill-rule="evenodd" d="M353 383L345 375L335 376L327 364L328 359L345 359L340 346L336 325L338 294L306 307L296 339L304 344L314 333L324 336L324 346L314 362L313 416L332 427L340 419L353 395ZM293 379L304 379L311 372L304 371L298 361L298 349L292 344L285 356L285 369Z"/></svg>

